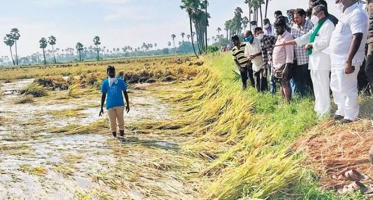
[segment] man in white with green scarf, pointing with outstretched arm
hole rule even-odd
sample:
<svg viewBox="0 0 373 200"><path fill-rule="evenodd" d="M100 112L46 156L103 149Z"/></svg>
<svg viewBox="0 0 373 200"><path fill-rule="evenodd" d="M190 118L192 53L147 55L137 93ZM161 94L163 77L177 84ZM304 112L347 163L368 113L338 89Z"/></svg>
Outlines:
<svg viewBox="0 0 373 200"><path fill-rule="evenodd" d="M332 32L333 22L328 19L328 8L318 5L313 8L311 22L315 24L307 34L281 45L306 45L307 55L310 56L309 69L315 93L315 111L323 117L330 112L330 70L331 59L326 53Z"/></svg>

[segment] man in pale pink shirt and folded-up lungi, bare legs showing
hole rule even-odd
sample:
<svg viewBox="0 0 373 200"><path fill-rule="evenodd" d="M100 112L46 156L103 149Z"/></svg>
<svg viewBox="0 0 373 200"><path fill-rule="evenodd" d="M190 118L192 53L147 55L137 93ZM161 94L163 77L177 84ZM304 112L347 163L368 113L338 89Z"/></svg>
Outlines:
<svg viewBox="0 0 373 200"><path fill-rule="evenodd" d="M283 19L277 19L275 29L278 35L276 45L293 40L294 37L286 30ZM294 45L276 46L273 49L273 76L280 83L281 96L290 103L292 91L290 88L291 67L294 61Z"/></svg>

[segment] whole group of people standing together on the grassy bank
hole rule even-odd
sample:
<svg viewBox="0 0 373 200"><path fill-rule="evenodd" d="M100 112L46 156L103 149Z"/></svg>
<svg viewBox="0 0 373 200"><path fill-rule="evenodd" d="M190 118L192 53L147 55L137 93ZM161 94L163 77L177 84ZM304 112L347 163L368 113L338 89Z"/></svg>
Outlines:
<svg viewBox="0 0 373 200"><path fill-rule="evenodd" d="M250 79L258 92L267 91L268 75L270 92L275 94L279 83L280 93L289 103L293 94L313 93L320 117L330 112L332 91L338 106L334 119L340 123L355 121L360 109L361 68L373 92L373 0L367 3L365 10L360 0L335 0L341 12L338 20L328 12L325 0L310 0L307 10L288 10L287 17L276 11L274 24L264 19L264 27L246 31L243 42L233 36L233 59L243 88Z"/></svg>

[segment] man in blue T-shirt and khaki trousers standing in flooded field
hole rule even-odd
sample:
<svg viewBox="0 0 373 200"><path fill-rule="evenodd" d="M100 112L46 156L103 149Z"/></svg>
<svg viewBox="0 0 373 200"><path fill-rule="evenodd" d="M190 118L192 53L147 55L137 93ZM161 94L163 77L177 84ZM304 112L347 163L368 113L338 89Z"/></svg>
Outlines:
<svg viewBox="0 0 373 200"><path fill-rule="evenodd" d="M102 82L101 111L98 116L100 117L103 115L103 105L107 94L106 110L107 116L109 117L111 132L113 136L116 137L116 126L118 125L120 137L124 137L124 102L122 92L126 99L126 112L128 113L129 102L127 86L123 79L115 77L114 66L107 66L106 73L109 77Z"/></svg>

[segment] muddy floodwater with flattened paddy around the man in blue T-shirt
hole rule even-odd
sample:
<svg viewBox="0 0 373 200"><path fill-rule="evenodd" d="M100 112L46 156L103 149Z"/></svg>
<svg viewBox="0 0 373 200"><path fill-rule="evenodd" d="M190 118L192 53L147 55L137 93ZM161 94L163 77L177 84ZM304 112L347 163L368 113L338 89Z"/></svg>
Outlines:
<svg viewBox="0 0 373 200"><path fill-rule="evenodd" d="M20 98L19 89L32 81L1 85L0 200L79 200L87 195L92 200L193 199L196 190L180 170L172 170L184 165L178 157L181 139L127 134L121 142L110 133L52 134L53 128L99 120L100 97L35 98L33 103L14 104ZM126 122L171 118L173 108L157 101L151 92L131 91L130 102ZM76 116L52 114L81 107Z"/></svg>

